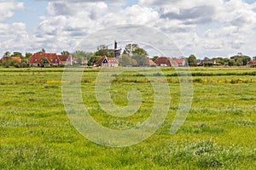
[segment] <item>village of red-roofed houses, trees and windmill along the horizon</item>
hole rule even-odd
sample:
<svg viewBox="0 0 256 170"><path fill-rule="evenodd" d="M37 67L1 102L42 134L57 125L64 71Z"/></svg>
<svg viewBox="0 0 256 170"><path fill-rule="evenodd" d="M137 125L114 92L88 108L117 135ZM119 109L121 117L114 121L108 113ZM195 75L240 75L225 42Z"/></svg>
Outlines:
<svg viewBox="0 0 256 170"><path fill-rule="evenodd" d="M241 53L227 58L205 58L196 59L195 55L191 54L188 58L173 57L173 56L154 56L148 57L148 52L140 48L137 44L127 44L122 52L118 48L118 44L114 41L114 48L108 49L107 46L101 45L97 48L96 53L87 53L77 51L70 54L67 51L56 53L46 53L43 48L38 53L27 53L26 57L21 53L15 52L10 54L6 52L0 60L0 64L4 67L55 67L55 66L102 66L102 67L118 67L118 66L133 66L133 67L183 67L183 66L255 66L256 59L248 57Z"/></svg>

